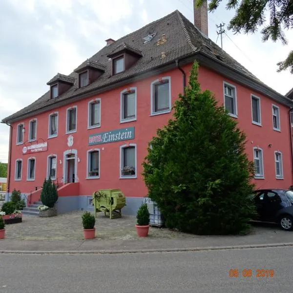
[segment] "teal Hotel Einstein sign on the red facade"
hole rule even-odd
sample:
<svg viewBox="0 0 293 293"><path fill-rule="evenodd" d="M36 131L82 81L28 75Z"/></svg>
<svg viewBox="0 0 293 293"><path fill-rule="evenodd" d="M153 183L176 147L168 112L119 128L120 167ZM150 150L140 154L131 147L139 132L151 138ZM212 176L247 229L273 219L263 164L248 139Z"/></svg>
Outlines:
<svg viewBox="0 0 293 293"><path fill-rule="evenodd" d="M101 133L91 134L88 137L88 145L100 145L134 139L134 127L110 130Z"/></svg>

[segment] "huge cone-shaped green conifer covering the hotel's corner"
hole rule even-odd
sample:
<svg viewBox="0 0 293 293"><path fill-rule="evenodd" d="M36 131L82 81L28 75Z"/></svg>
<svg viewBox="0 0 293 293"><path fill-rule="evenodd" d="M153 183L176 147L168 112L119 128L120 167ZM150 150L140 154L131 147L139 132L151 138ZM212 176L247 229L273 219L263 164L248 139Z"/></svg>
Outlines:
<svg viewBox="0 0 293 293"><path fill-rule="evenodd" d="M246 136L208 90L193 64L174 119L157 130L143 163L148 196L166 226L196 234L237 234L249 228L253 164Z"/></svg>

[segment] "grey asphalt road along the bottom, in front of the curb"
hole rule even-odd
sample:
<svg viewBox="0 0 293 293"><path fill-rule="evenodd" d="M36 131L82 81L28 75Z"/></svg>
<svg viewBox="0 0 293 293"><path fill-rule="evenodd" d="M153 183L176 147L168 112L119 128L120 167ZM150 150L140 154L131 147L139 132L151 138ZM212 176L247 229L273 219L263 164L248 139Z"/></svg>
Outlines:
<svg viewBox="0 0 293 293"><path fill-rule="evenodd" d="M231 269L238 269L239 276L230 277ZM242 276L244 269L251 270L252 276ZM273 270L274 275L257 277L256 270ZM0 293L292 293L292 270L292 247L116 255L0 254Z"/></svg>

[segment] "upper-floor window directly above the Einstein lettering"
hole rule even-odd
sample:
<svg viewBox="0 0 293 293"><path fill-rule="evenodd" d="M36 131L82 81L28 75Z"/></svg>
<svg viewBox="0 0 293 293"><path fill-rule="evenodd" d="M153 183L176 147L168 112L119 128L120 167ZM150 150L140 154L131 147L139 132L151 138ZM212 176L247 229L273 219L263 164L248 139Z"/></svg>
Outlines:
<svg viewBox="0 0 293 293"><path fill-rule="evenodd" d="M136 120L136 87L124 89L120 93L120 123Z"/></svg>

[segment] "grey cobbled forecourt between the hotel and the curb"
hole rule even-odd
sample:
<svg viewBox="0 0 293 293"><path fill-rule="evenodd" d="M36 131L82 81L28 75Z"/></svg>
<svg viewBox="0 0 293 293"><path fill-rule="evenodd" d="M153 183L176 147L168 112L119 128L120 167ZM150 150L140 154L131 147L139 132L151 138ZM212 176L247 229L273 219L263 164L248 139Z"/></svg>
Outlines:
<svg viewBox="0 0 293 293"><path fill-rule="evenodd" d="M41 218L23 216L22 223L6 225L6 239L8 240L83 240L82 211L74 211L58 215L57 217ZM124 215L122 218L110 220L104 213L98 213L96 218L95 240L140 240L136 235L134 216ZM237 242L246 243L252 240L257 243L288 242L293 239L293 232L280 230L276 225L253 225L247 236L198 236L166 228L151 227L147 239L182 239L221 241L230 238ZM215 238L215 239L214 239ZM257 238L257 239L256 239ZM217 241L218 240L218 241ZM228 239L227 239L228 240ZM263 241L262 241L263 240Z"/></svg>

